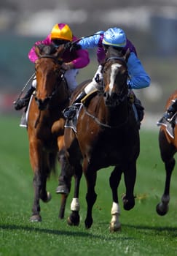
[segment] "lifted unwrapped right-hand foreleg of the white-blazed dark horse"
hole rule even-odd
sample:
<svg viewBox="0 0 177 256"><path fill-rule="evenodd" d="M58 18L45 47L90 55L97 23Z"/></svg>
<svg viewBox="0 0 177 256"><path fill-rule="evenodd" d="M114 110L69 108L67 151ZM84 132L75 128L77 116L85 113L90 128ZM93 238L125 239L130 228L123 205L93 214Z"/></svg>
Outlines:
<svg viewBox="0 0 177 256"><path fill-rule="evenodd" d="M129 211L135 206L135 197L133 195L136 178L136 161L129 162L124 170L126 193L122 197L125 210Z"/></svg>

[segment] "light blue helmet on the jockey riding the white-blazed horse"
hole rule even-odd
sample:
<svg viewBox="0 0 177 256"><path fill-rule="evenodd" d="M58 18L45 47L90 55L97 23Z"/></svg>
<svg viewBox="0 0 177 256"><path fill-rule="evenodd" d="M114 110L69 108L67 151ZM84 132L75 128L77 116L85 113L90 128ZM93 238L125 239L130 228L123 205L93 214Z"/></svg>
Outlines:
<svg viewBox="0 0 177 256"><path fill-rule="evenodd" d="M103 36L103 45L112 45L115 47L125 47L127 43L125 31L119 28L106 30Z"/></svg>

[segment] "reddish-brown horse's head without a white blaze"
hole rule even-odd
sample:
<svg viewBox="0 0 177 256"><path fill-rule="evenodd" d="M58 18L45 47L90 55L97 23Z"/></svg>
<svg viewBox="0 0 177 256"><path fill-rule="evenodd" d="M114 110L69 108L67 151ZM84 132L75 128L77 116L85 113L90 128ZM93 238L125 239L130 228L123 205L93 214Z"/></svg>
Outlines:
<svg viewBox="0 0 177 256"><path fill-rule="evenodd" d="M54 45L36 45L35 53L39 57L35 62L36 70L36 104L39 110L49 107L52 97L56 94L58 86L63 80L60 70L64 45L55 48Z"/></svg>

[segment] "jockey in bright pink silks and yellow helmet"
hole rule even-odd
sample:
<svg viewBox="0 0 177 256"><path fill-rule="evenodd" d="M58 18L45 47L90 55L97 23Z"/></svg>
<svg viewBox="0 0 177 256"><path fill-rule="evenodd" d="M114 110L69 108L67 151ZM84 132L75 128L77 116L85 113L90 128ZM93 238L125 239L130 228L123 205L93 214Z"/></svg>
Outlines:
<svg viewBox="0 0 177 256"><path fill-rule="evenodd" d="M51 33L42 41L38 41L34 44L33 48L28 53L28 58L31 62L35 62L38 59L35 53L35 45L55 45L58 48L59 45L66 44L67 42L76 41L76 37L72 34L70 27L65 23L58 23L53 26ZM76 49L70 53L69 50L66 50L63 53L63 64L62 69L65 70L64 77L68 83L68 88L70 92L74 91L77 86L76 75L78 74L78 69L86 67L90 63L89 55L87 50ZM15 110L20 110L28 105L31 94L36 89L36 78L33 80L31 88L28 89L25 97L17 99L15 102Z"/></svg>

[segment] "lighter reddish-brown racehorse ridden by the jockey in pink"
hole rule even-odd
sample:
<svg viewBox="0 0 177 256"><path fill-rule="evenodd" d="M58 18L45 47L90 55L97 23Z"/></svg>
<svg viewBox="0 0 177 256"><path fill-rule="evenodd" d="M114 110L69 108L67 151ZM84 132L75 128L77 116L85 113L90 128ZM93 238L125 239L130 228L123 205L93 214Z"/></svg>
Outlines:
<svg viewBox="0 0 177 256"><path fill-rule="evenodd" d="M47 192L47 178L55 170L57 159L63 165L63 130L65 120L62 111L68 105L68 86L63 79L61 60L65 48L53 45L37 45L35 62L36 93L28 110L28 140L31 167L34 171L34 204L31 222L40 222L39 200L51 199ZM59 154L58 154L59 152Z"/></svg>

